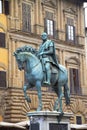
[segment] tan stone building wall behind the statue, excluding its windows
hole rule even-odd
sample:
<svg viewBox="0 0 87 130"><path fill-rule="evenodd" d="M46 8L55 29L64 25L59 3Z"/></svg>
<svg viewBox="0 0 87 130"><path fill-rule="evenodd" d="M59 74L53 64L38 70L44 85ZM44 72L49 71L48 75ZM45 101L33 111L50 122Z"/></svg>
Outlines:
<svg viewBox="0 0 87 130"><path fill-rule="evenodd" d="M23 31L22 19L22 3L27 3L30 7L31 14L31 31ZM72 112L74 117L71 118L71 123L76 123L76 116L80 115L83 122L87 123L87 81L86 81L86 60L85 60L85 39L84 39L84 15L82 3L75 3L71 0L15 0L9 2L10 13L4 18L3 22L6 28L6 48L2 53L5 54L5 59L2 62L7 67L7 93L4 100L6 108L4 110L4 120L10 122L18 122L27 119L28 111L36 110L38 105L36 90L28 91L32 102L27 103L24 100L22 87L24 84L24 72L20 72L17 67L13 52L23 45L30 45L36 49L41 44L41 33L44 31L44 18L46 12L53 14L53 20L56 22L56 38L49 37L55 42L56 54L60 64L66 66L68 73L69 68L78 68L80 70L80 86L81 93L71 95L71 104L67 107L63 99L63 110ZM66 41L65 25L67 17L71 18L76 27L76 44ZM7 22L6 22L7 20ZM2 20L0 20L2 21ZM2 29L2 28L1 28ZM0 29L0 30L1 30ZM6 50L6 52L4 52ZM2 55L1 53L1 55ZM1 56L0 56L1 57ZM70 74L69 87L70 87ZM1 93L3 91L1 90ZM53 104L56 95L51 88L42 88L43 110L53 110ZM82 107L83 106L83 107Z"/></svg>

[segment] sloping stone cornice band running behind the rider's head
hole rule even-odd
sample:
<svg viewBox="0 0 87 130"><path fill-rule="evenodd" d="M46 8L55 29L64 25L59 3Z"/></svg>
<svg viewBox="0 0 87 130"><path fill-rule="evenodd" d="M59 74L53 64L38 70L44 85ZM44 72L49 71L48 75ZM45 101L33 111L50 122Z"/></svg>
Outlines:
<svg viewBox="0 0 87 130"><path fill-rule="evenodd" d="M30 36L24 36L24 35L19 35L19 34L13 34L10 33L10 38L13 40L17 40L17 41L23 41L26 43L31 43L34 45L40 45L42 43L42 40L40 39L40 36L37 38L35 37L30 37ZM54 41L54 43L56 44L56 49L60 49L61 51L68 51L68 52L73 52L73 53L78 53L78 54L83 54L85 55L85 50L83 48L78 48L76 46L70 46L70 45L64 45L62 44L62 41L60 43L60 40L56 40Z"/></svg>

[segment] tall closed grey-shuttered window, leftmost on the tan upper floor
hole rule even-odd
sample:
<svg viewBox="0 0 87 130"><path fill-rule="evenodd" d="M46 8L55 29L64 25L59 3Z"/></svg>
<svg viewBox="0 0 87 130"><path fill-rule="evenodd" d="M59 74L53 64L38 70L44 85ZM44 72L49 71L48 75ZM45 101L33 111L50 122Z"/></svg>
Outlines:
<svg viewBox="0 0 87 130"><path fill-rule="evenodd" d="M25 32L31 32L31 7L22 3L22 29Z"/></svg>

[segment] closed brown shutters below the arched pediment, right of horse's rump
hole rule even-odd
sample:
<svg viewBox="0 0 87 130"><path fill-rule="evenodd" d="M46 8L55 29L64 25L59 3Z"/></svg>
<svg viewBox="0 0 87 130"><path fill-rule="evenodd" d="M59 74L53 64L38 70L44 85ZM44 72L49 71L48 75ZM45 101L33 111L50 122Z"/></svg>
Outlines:
<svg viewBox="0 0 87 130"><path fill-rule="evenodd" d="M81 94L79 70L70 68L70 92L71 94Z"/></svg>

